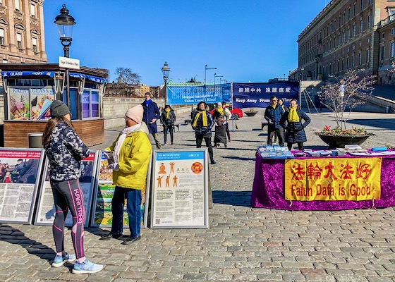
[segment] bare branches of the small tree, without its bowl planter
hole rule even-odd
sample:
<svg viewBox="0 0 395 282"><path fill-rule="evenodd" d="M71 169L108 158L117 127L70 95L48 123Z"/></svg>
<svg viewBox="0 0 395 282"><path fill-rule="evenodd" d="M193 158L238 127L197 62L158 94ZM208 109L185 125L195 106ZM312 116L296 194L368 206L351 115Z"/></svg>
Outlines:
<svg viewBox="0 0 395 282"><path fill-rule="evenodd" d="M351 111L356 106L365 104L367 97L372 94L373 87L370 85L376 81L375 75L360 75L363 71L365 70L347 71L342 78L322 86L318 92L321 103L333 111L336 128L346 129ZM345 111L348 111L347 116Z"/></svg>

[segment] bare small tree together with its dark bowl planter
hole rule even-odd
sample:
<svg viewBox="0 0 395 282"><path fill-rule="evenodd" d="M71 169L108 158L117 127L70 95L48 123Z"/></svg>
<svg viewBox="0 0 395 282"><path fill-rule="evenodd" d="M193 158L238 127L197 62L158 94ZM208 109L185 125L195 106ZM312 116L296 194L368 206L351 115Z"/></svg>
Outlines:
<svg viewBox="0 0 395 282"><path fill-rule="evenodd" d="M362 144L373 133L368 133L365 128L348 129L346 127L351 111L360 104L365 104L367 97L372 94L375 82L374 75L359 75L364 70L351 70L336 80L321 87L318 92L321 103L334 113L336 127L325 128L317 134L322 141L329 145L329 149L344 147L347 144Z"/></svg>

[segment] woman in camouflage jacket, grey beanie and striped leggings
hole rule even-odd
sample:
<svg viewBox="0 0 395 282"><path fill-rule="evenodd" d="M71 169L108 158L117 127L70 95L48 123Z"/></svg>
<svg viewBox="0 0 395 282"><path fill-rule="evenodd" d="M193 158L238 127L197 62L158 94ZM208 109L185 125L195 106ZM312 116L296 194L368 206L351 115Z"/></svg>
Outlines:
<svg viewBox="0 0 395 282"><path fill-rule="evenodd" d="M49 180L56 208L52 225L56 257L52 266L60 267L67 262L75 262L74 274L93 274L103 269L102 264L94 264L85 258L84 221L85 207L83 190L78 178L81 176L80 162L89 156L89 148L80 140L71 124L70 109L61 101L52 102L51 119L45 126L42 145L49 160ZM71 238L75 255L64 250L64 223L68 210L73 218Z"/></svg>

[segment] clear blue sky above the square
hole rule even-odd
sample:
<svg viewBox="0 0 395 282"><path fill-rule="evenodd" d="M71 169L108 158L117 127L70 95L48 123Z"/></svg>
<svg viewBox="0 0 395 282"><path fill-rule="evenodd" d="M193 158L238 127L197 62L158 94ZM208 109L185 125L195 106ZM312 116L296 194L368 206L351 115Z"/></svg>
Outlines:
<svg viewBox="0 0 395 282"><path fill-rule="evenodd" d="M54 24L66 4L77 25L70 57L81 66L131 68L146 85L163 83L169 64L174 82L214 73L232 82L267 82L297 67L296 40L329 0L45 0L49 62L63 47ZM113 4L114 3L114 4ZM217 78L217 83L219 78Z"/></svg>

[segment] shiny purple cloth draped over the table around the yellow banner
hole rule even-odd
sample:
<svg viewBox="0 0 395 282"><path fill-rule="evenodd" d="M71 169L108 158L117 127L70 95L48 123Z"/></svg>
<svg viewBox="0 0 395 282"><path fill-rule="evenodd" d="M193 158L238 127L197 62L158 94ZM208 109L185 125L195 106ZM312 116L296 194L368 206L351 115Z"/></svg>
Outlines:
<svg viewBox="0 0 395 282"><path fill-rule="evenodd" d="M395 157L382 157L381 198L363 201L289 201L285 200L285 159L262 159L255 155L255 178L251 194L252 207L288 210L367 209L395 206ZM346 156L350 158L351 156Z"/></svg>

